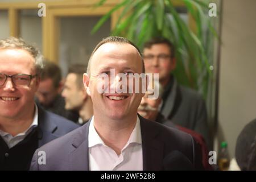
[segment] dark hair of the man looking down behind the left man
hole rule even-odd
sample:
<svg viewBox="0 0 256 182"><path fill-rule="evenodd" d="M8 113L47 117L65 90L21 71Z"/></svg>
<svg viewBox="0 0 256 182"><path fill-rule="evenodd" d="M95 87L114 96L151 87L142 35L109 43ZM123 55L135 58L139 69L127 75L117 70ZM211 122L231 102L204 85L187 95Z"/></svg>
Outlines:
<svg viewBox="0 0 256 182"><path fill-rule="evenodd" d="M43 60L44 69L42 71L41 79L46 80L47 78L51 78L53 82L53 86L58 88L61 81L61 70L60 67L53 63L52 61Z"/></svg>

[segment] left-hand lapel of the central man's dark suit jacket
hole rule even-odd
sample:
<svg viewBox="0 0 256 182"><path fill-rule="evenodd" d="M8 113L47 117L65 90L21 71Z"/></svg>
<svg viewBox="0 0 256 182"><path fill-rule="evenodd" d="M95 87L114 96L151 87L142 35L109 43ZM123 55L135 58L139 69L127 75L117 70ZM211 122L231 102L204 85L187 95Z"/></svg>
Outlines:
<svg viewBox="0 0 256 182"><path fill-rule="evenodd" d="M90 120L81 126L81 129L73 138L72 151L70 152L69 164L70 170L89 170L89 155L88 155L88 134Z"/></svg>

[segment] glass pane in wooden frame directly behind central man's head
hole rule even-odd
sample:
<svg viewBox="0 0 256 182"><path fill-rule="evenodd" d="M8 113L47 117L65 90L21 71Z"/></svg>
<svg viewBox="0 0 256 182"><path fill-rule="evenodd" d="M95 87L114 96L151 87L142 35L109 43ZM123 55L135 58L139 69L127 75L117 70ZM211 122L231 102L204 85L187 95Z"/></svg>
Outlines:
<svg viewBox="0 0 256 182"><path fill-rule="evenodd" d="M73 63L87 64L98 42L110 35L110 20L96 34L90 31L100 16L76 16L60 18L59 65L63 76Z"/></svg>

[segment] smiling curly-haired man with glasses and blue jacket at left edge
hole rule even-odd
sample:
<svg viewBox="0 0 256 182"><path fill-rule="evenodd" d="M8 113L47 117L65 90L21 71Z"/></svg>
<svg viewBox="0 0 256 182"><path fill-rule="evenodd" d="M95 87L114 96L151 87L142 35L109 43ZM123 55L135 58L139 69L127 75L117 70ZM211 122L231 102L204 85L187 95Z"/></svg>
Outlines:
<svg viewBox="0 0 256 182"><path fill-rule="evenodd" d="M76 129L35 105L42 55L22 39L0 40L0 170L27 170L36 148Z"/></svg>

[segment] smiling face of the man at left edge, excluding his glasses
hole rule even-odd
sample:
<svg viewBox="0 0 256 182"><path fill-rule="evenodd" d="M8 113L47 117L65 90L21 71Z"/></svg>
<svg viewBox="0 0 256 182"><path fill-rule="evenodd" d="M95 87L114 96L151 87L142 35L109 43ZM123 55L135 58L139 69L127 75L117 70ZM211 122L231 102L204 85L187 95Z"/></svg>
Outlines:
<svg viewBox="0 0 256 182"><path fill-rule="evenodd" d="M23 49L0 49L0 73L35 75L35 60ZM11 78L0 86L0 120L22 119L34 109L34 95L39 80L34 77L28 86L15 86Z"/></svg>

